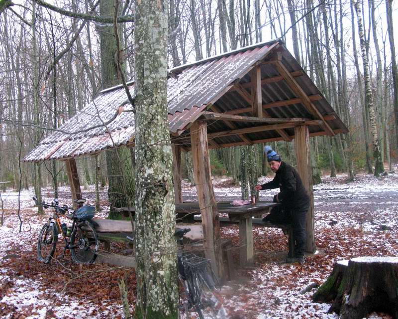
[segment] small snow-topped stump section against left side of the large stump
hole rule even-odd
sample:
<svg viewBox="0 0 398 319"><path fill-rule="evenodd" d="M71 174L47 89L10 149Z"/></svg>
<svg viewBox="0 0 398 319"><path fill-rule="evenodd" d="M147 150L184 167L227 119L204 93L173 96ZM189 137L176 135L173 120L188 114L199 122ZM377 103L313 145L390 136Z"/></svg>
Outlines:
<svg viewBox="0 0 398 319"><path fill-rule="evenodd" d="M315 303L329 303L336 298L347 265L348 260L340 260L334 265L330 276L313 294L312 300Z"/></svg>

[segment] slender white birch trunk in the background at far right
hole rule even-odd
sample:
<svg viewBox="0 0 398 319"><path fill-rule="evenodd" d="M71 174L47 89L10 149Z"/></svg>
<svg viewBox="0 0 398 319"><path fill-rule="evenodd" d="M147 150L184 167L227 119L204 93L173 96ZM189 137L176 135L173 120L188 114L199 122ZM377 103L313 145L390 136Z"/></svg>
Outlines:
<svg viewBox="0 0 398 319"><path fill-rule="evenodd" d="M361 43L361 52L362 52L362 61L364 65L364 80L365 80L365 92L366 92L366 107L369 110L369 120L371 125L371 133L373 137L373 157L375 159L375 171L374 175L379 176L380 173L384 172L384 165L380 153L380 141L377 132L377 125L376 125L376 116L375 116L375 109L373 103L373 95L372 95L372 88L370 84L370 75L369 75L369 63L368 63L368 55L366 52L366 41L363 31L363 24L362 24L362 16L361 16L361 6L359 2L355 3L355 10L357 12L358 17L358 34L359 40Z"/></svg>

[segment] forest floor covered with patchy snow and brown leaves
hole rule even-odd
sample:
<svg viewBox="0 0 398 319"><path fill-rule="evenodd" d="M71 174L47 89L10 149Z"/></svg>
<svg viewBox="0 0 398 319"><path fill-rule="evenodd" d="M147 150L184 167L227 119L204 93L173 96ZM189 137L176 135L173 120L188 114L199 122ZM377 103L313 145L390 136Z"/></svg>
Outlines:
<svg viewBox="0 0 398 319"><path fill-rule="evenodd" d="M270 180L262 178L261 182ZM215 179L217 200L240 198L240 187L228 179ZM195 199L196 189L183 183L184 200ZM67 188L60 189L60 203L71 204ZM94 203L92 189L83 190ZM276 190L262 191L262 200L271 200ZM22 231L19 232L18 193L2 193L4 225L0 227L0 318L122 318L118 278L128 278L131 308L135 275L131 269L106 265L78 265L67 252L64 259L50 265L36 257L36 241L41 225L50 215L37 215L31 197L33 190L20 195ZM43 191L49 201L50 188ZM106 191L102 192L106 217ZM328 304L311 301L314 290L301 291L312 283L321 284L338 260L359 256L398 256L398 174L375 178L357 175L347 183L345 176L324 177L314 186L315 238L317 253L305 263L285 264L287 238L279 229L254 226L254 267L236 268L238 277L221 289L228 319L338 318L327 314ZM229 238L235 265L238 252L238 226L222 228ZM58 245L61 246L61 245ZM60 256L61 250L56 251ZM373 314L372 318L390 318Z"/></svg>

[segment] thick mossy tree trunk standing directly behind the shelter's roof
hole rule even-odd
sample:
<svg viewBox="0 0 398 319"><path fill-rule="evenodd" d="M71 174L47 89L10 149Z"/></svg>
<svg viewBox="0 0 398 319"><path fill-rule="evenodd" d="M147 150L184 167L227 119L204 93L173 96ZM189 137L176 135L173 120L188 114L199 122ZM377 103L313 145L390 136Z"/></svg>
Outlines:
<svg viewBox="0 0 398 319"><path fill-rule="evenodd" d="M114 0L100 1L100 15L114 15ZM102 24L98 28L101 46L101 80L102 88L105 89L121 83L116 65L117 43L112 24ZM132 167L130 151L127 148L122 147L117 150L106 151L106 171L109 182L108 199L111 207L134 205L135 174ZM110 210L109 218L118 216L119 213Z"/></svg>

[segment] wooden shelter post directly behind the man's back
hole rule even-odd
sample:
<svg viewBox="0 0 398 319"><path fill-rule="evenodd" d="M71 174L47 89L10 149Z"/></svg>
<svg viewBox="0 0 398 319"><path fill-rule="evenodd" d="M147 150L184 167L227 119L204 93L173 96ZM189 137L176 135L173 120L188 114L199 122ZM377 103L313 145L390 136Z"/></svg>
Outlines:
<svg viewBox="0 0 398 319"><path fill-rule="evenodd" d="M298 126L295 128L295 150L298 174L300 175L302 183L310 198L310 207L307 212L306 222L305 250L309 253L314 253L314 193L312 189L312 167L310 158L309 131L307 126Z"/></svg>

